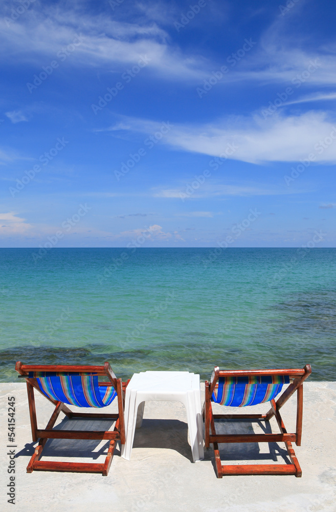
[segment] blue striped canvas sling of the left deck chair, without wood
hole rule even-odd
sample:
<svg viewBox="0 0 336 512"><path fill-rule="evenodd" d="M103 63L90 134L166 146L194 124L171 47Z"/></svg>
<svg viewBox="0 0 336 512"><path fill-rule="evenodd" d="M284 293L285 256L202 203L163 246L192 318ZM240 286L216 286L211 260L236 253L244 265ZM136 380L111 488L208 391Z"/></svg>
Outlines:
<svg viewBox="0 0 336 512"><path fill-rule="evenodd" d="M116 398L113 386L99 386L98 375L29 372L44 395L77 407L106 407Z"/></svg>

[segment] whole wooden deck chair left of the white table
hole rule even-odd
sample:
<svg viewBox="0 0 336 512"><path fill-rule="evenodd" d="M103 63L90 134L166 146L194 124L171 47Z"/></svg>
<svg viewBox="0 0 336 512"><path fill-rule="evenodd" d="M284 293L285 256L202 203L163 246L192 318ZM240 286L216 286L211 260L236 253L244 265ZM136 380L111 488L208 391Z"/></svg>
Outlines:
<svg viewBox="0 0 336 512"><path fill-rule="evenodd" d="M66 365L24 365L18 361L15 370L19 378L27 381L28 403L33 441L38 445L27 466L27 473L39 471L69 471L76 473L108 474L116 442L125 444L124 392L126 384L117 379L108 362L104 366ZM105 376L108 382L98 382ZM35 410L34 389L46 397L56 407L44 430L38 429ZM118 414L72 412L65 404L77 407L103 408L117 397ZM113 418L116 420L113 432L53 430L60 412L68 418ZM48 439L109 439L109 447L104 463L40 461L42 450Z"/></svg>

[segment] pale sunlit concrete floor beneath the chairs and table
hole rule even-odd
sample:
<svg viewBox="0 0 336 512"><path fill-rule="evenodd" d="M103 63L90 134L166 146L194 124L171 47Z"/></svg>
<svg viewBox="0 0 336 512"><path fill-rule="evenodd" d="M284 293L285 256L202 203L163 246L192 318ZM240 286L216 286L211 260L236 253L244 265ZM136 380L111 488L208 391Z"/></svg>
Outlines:
<svg viewBox="0 0 336 512"><path fill-rule="evenodd" d="M204 388L204 385L203 385ZM36 396L37 395L37 396ZM16 399L16 504L7 503L7 401ZM37 419L42 428L52 413L51 404L36 396ZM306 382L302 446L294 449L302 478L294 476L228 476L217 479L212 449L205 460L192 463L186 413L178 402L146 402L144 421L136 431L132 457L120 457L119 446L107 477L99 474L26 473L33 453L26 386L0 384L1 397L1 510L22 512L335 512L336 511L336 382ZM294 399L293 399L294 398ZM294 431L296 399L282 409L288 431ZM218 407L218 406L217 406ZM115 411L115 404L109 408ZM221 412L229 408L220 408ZM265 412L267 404L253 409ZM256 411L257 409L257 411ZM232 412L232 410L231 410ZM70 425L71 422L71 425ZM101 430L109 421L66 420L61 414L58 428ZM75 423L77 423L75 425ZM103 426L104 425L104 426ZM227 425L228 426L228 425ZM271 428L278 432L271 421ZM257 423L230 425L231 432L262 432ZM242 430L241 430L242 429ZM293 430L292 430L293 429ZM221 445L222 460L231 463L283 463L284 444ZM45 459L95 462L104 460L105 441L48 441ZM106 451L106 450L105 450ZM247 461L248 458L248 461Z"/></svg>

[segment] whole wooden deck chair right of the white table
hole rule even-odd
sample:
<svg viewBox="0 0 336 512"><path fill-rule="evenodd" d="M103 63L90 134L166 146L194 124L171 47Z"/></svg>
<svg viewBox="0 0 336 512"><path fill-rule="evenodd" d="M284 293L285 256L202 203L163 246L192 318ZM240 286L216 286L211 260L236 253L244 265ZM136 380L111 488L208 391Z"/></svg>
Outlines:
<svg viewBox="0 0 336 512"><path fill-rule="evenodd" d="M295 475L301 477L302 472L293 450L292 441L301 445L303 381L310 375L310 365L302 370L251 370L222 371L214 368L210 383L205 382L205 445L213 444L217 478L223 475ZM289 384L275 401L283 385ZM280 409L293 393L297 392L296 432L287 433L280 416ZM266 414L213 414L212 402L223 406L243 407L254 406L262 402L271 402L271 409ZM252 421L268 421L272 416L278 423L280 434L217 434L216 419L250 419ZM210 433L211 429L211 433ZM222 465L218 443L250 443L250 442L284 442L288 457L292 464L237 464Z"/></svg>

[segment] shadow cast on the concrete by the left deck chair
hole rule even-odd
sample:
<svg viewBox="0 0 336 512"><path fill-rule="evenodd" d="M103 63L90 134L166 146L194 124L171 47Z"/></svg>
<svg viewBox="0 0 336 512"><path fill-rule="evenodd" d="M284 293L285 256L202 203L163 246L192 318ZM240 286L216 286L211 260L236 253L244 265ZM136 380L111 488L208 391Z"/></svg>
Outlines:
<svg viewBox="0 0 336 512"><path fill-rule="evenodd" d="M111 419L89 419L89 418L68 418L65 417L56 425L53 430L111 430L115 420ZM109 446L109 440L100 446L101 439L48 439L43 447L42 457L74 457L98 459L101 455L106 456ZM115 450L115 455L120 455L119 441ZM36 442L27 443L25 448L16 454L16 457L31 457L34 453Z"/></svg>

